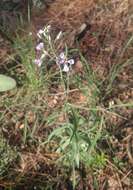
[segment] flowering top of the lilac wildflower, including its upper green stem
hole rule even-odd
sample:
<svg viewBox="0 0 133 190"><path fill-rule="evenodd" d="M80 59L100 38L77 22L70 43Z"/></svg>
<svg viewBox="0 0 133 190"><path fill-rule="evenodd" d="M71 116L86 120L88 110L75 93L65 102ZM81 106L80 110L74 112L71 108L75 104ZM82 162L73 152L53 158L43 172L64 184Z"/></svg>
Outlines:
<svg viewBox="0 0 133 190"><path fill-rule="evenodd" d="M60 40L62 38L62 31L60 31L55 38L51 35L51 26L48 25L44 29L40 29L37 32L37 45L35 47L36 55L34 64L41 70L45 68L47 73L47 67L52 62L57 66L60 72L60 78L64 90L68 92L69 89L69 73L74 65L74 59L68 58L68 49L65 48L61 51L58 48ZM53 66L54 66L53 65ZM66 73L66 75L64 75Z"/></svg>

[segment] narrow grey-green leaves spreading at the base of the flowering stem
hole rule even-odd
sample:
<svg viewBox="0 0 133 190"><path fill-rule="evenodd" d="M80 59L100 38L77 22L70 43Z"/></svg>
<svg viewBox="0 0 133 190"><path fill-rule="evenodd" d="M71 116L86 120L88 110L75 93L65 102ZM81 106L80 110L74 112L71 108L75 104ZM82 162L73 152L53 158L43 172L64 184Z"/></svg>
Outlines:
<svg viewBox="0 0 133 190"><path fill-rule="evenodd" d="M54 129L48 141L56 145L52 151L61 154L58 162L72 169L73 186L76 185L75 170L80 164L86 167L99 168L106 163L104 154L97 152L98 140L102 138L104 126L103 116L98 116L93 111L89 117L80 115L78 109L68 106L68 121ZM44 144L45 144L44 143Z"/></svg>

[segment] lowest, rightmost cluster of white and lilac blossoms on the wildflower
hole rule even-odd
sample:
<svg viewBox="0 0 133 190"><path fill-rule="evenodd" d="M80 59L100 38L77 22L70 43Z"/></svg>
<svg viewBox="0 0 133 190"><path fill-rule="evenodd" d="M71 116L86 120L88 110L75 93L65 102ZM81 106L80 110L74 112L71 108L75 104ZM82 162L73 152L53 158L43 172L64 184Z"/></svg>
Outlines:
<svg viewBox="0 0 133 190"><path fill-rule="evenodd" d="M62 71L68 72L74 64L74 59L67 59L65 53L62 52L59 57L57 57L56 64L62 69Z"/></svg>

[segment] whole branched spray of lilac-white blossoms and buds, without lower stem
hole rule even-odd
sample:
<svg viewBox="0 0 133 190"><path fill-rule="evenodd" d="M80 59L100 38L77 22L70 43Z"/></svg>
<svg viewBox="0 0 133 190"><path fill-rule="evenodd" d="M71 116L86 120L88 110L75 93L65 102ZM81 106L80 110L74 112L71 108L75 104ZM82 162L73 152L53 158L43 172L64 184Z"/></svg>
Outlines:
<svg viewBox="0 0 133 190"><path fill-rule="evenodd" d="M71 66L74 64L74 59L68 59L64 52L60 53L59 56L56 55L55 48L53 48L53 45L51 45L51 35L50 35L50 29L51 26L48 25L44 29L40 29L37 32L38 40L41 41L36 46L36 59L34 60L34 63L41 67L43 60L46 56L49 56L53 60L56 60L56 64L59 66L59 68L62 69L64 72L69 72L71 69ZM60 31L55 40L55 43L61 38L62 31ZM44 48L44 43L46 44L46 48L50 46L50 51L46 51ZM53 51L53 52L51 52Z"/></svg>

